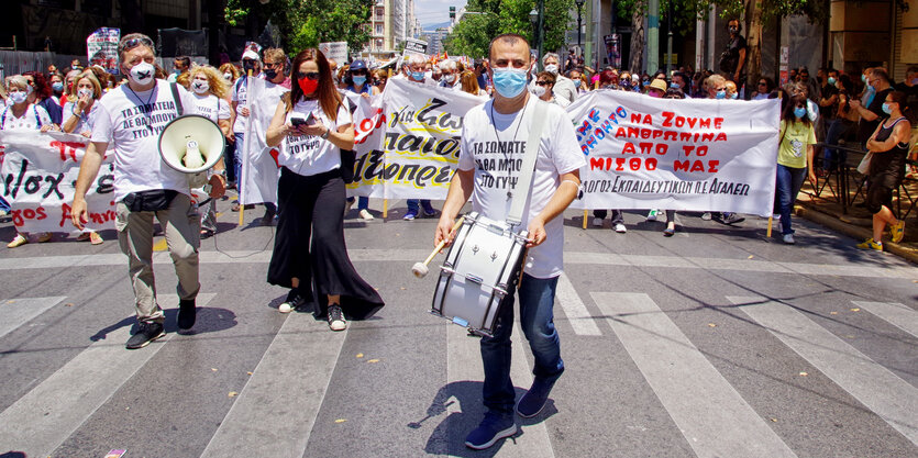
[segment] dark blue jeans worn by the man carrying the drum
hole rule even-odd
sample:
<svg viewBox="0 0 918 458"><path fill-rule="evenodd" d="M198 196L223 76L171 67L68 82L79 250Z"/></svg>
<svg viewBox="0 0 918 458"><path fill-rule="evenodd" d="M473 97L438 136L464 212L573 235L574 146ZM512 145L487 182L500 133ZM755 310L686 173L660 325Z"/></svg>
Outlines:
<svg viewBox="0 0 918 458"><path fill-rule="evenodd" d="M520 327L529 340L535 368L532 373L554 382L564 371L561 343L554 327L554 294L557 277L541 279L523 275L517 290L520 298ZM494 337L482 337L482 362L485 366L483 391L485 406L499 414L512 414L516 392L510 381L510 334L513 332L513 295L500 304Z"/></svg>

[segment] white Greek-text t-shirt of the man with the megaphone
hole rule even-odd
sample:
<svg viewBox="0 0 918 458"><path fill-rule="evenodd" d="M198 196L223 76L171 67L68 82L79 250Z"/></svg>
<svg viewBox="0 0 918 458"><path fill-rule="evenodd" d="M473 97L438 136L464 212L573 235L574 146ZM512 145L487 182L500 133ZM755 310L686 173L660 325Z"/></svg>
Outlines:
<svg viewBox="0 0 918 458"><path fill-rule="evenodd" d="M178 86L186 113L196 113L195 97ZM99 112L92 142L114 147L114 199L151 189L173 189L189 194L185 174L173 169L159 157L159 134L178 116L173 92L165 80L143 92L119 86L96 102Z"/></svg>

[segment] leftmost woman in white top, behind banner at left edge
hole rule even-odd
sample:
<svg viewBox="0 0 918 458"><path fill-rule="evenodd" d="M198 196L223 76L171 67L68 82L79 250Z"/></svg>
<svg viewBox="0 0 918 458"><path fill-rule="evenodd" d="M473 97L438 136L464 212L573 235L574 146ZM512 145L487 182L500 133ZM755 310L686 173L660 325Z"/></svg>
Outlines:
<svg viewBox="0 0 918 458"><path fill-rule="evenodd" d="M34 103L29 103L29 93L32 92L29 80L22 75L7 78L7 94L9 101L0 114L0 130L33 130L48 132L56 130L51 122L47 111ZM38 234L40 243L51 239L51 233ZM29 234L16 231L16 236L7 244L7 248L15 248L29 243Z"/></svg>

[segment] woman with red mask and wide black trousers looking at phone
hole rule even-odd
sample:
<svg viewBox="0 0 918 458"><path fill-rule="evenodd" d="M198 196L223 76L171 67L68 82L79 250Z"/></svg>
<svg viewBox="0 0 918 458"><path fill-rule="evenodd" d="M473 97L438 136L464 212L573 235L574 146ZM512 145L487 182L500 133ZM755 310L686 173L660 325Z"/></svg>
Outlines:
<svg viewBox="0 0 918 458"><path fill-rule="evenodd" d="M332 331L351 320L372 316L385 304L347 257L344 243L344 180L341 149L353 149L351 115L334 87L325 55L300 52L292 64L295 83L277 105L267 144L284 147L277 198L280 219L268 282L290 288L278 311L289 313L312 302Z"/></svg>

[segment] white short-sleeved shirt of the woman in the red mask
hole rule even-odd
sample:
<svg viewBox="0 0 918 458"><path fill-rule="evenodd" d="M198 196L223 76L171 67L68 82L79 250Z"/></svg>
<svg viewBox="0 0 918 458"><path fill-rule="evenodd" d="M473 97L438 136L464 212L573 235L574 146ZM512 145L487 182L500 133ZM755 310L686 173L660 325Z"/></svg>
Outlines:
<svg viewBox="0 0 918 458"><path fill-rule="evenodd" d="M301 100L287 113L286 122L290 119L307 118L312 113L322 124L332 131L351 124L351 113L344 103L338 107L338 121L332 121L319 107L318 100ZM316 135L288 135L286 145L280 150L277 161L280 166L287 167L297 175L308 177L319 175L341 167L341 148L328 139Z"/></svg>

